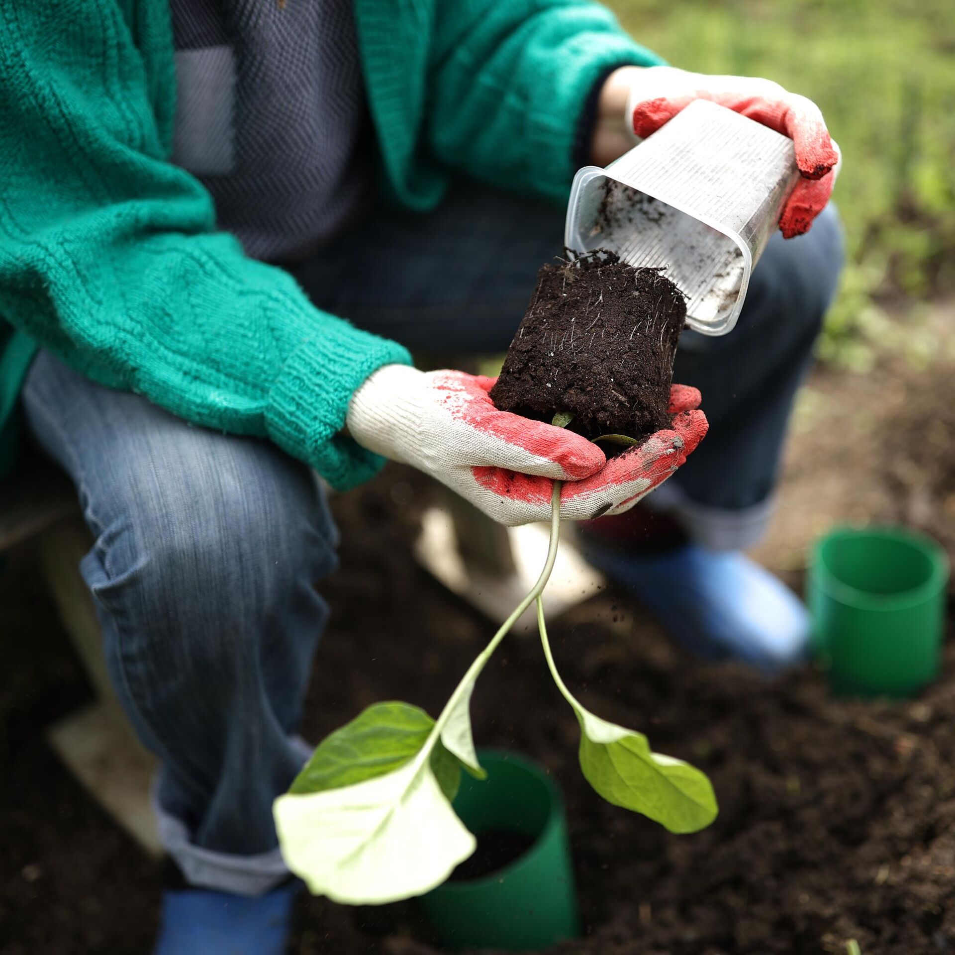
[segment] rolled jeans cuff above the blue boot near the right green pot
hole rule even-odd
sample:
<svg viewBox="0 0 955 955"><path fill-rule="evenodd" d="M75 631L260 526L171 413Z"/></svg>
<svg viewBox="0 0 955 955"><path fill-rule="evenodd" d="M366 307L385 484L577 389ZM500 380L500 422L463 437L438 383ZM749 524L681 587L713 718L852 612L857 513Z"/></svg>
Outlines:
<svg viewBox="0 0 955 955"><path fill-rule="evenodd" d="M713 507L691 500L678 484L667 481L644 500L650 510L669 514L692 541L711 550L746 550L766 535L775 510L771 496L749 507Z"/></svg>

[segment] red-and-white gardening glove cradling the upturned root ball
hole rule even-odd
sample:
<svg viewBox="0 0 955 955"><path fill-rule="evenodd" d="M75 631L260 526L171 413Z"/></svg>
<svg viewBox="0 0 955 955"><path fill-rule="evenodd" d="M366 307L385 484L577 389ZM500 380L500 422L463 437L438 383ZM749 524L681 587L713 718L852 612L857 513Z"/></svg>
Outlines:
<svg viewBox="0 0 955 955"><path fill-rule="evenodd" d="M502 524L550 520L554 480L567 481L562 520L620 514L663 483L700 442L700 393L674 385L672 429L606 460L582 435L498 411L494 378L386 365L351 397L347 427L364 448L435 477Z"/></svg>

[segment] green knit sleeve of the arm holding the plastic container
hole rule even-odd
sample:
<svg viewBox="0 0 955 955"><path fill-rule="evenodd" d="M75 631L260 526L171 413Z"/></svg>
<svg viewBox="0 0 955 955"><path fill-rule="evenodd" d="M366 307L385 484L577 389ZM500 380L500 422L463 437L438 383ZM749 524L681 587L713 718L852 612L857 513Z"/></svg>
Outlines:
<svg viewBox="0 0 955 955"><path fill-rule="evenodd" d="M594 84L619 66L663 62L591 0L439 4L430 146L479 179L565 201Z"/></svg>

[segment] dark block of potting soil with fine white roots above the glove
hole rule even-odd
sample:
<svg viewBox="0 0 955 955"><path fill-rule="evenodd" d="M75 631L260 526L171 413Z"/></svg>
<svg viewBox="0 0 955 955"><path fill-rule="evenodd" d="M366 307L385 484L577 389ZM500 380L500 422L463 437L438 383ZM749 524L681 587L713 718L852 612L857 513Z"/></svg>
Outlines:
<svg viewBox="0 0 955 955"><path fill-rule="evenodd" d="M502 411L543 421L570 412L571 429L590 438L668 428L686 315L660 269L605 251L544 265L491 397Z"/></svg>

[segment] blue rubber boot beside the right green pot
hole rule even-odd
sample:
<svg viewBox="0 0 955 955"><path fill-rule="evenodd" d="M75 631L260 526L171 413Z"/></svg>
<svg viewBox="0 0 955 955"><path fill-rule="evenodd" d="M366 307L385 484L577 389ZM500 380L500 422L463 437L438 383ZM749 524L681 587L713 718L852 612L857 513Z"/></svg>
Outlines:
<svg viewBox="0 0 955 955"><path fill-rule="evenodd" d="M767 675L806 658L805 606L739 551L695 543L635 553L582 534L584 557L626 587L684 647L707 660L741 660Z"/></svg>

